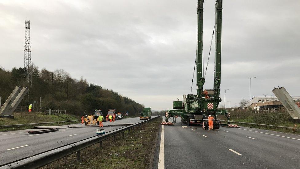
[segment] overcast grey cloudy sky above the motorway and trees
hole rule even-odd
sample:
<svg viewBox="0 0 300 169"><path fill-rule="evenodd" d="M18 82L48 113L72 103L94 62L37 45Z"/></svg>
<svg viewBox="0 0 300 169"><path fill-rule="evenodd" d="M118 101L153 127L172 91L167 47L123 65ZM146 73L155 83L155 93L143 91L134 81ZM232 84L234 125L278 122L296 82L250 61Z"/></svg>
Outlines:
<svg viewBox="0 0 300 169"><path fill-rule="evenodd" d="M0 1L0 66L24 62L24 20L30 20L32 62L112 89L153 110L190 93L196 50L196 0ZM224 0L221 95L226 107L271 96L284 86L300 96L300 1ZM204 3L208 57L215 0ZM213 46L214 47L214 46ZM213 88L214 54L206 84ZM1 77L0 77L1 78ZM195 84L193 93L195 93ZM224 105L224 99L222 103Z"/></svg>

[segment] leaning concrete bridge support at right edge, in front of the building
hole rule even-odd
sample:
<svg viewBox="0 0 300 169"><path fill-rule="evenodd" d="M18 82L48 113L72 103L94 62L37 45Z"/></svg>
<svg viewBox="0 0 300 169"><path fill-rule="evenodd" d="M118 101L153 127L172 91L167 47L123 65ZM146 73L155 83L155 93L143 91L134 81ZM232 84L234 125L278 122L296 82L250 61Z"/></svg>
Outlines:
<svg viewBox="0 0 300 169"><path fill-rule="evenodd" d="M293 119L300 119L300 109L286 91L284 87L274 88L273 93L276 95L278 100L282 103L286 111L290 114Z"/></svg>

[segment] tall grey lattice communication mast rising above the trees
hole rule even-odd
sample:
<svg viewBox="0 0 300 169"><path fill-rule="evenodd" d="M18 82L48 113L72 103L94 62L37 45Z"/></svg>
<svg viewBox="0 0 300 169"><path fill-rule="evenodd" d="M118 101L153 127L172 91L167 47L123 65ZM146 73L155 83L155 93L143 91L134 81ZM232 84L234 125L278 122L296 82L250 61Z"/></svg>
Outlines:
<svg viewBox="0 0 300 169"><path fill-rule="evenodd" d="M31 66L31 46L30 46L30 21L25 20L25 45L24 45L24 81L23 86L31 89L32 86L32 66ZM29 92L28 92L29 97Z"/></svg>

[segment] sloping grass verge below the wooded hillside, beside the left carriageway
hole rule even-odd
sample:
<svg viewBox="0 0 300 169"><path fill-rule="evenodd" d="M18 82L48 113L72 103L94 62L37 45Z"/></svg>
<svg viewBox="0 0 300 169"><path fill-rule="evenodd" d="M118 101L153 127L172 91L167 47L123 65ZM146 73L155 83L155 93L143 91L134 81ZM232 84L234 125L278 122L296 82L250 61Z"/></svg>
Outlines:
<svg viewBox="0 0 300 169"><path fill-rule="evenodd" d="M79 117L74 115L45 115L40 112L14 112L14 119L9 118L0 118L0 126L1 125L12 125L12 124L27 124L27 123L43 123L43 122L59 122L59 121L70 121L70 120L79 120ZM75 122L78 123L78 122ZM74 123L53 123L55 125L65 125L65 124L74 124ZM47 124L47 125L53 125ZM43 125L43 126L46 126ZM3 131L14 131L14 130L22 130L29 129L32 126L21 126L21 127L11 127L11 128L0 128L0 132Z"/></svg>

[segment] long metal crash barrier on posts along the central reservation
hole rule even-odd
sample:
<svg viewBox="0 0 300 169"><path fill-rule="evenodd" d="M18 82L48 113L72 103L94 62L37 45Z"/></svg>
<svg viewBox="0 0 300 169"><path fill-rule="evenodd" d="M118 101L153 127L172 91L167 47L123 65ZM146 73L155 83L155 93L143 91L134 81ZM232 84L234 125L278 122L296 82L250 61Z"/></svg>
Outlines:
<svg viewBox="0 0 300 169"><path fill-rule="evenodd" d="M128 131L130 132L130 129L134 130L134 128L143 125L145 123L149 123L151 122L153 119L157 119L160 116L156 116L152 119L148 119L136 124L132 124L130 126L127 127L123 127L114 131L109 131L108 133L106 133L105 135L102 136L95 136L95 137L91 137L89 139L85 139L82 141L79 141L77 143L72 143L63 147L59 147L57 149L54 150L50 150L50 151L46 151L44 153L38 154L38 155L34 155L32 157L28 157L26 159L22 159L20 161L16 161L10 164L6 164L2 167L0 167L0 169L11 169L11 168L39 168L39 167L43 167L49 163L52 163L54 161L57 161L61 158L64 158L68 155L77 154L77 160L80 160L80 151L90 147L94 144L100 143L100 147L102 146L102 141L112 138L114 140L116 140L116 135L122 134L122 136L124 136L124 132Z"/></svg>

